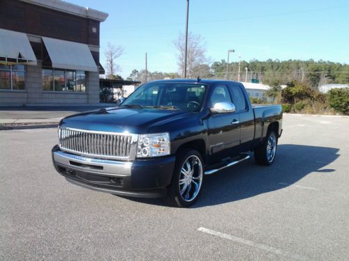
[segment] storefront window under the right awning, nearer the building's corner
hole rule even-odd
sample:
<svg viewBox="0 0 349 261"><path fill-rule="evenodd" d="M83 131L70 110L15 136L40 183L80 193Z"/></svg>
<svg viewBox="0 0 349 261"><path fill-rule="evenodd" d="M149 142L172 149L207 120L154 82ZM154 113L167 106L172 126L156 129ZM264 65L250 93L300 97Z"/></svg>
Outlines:
<svg viewBox="0 0 349 261"><path fill-rule="evenodd" d="M86 72L43 68L43 90L86 92Z"/></svg>

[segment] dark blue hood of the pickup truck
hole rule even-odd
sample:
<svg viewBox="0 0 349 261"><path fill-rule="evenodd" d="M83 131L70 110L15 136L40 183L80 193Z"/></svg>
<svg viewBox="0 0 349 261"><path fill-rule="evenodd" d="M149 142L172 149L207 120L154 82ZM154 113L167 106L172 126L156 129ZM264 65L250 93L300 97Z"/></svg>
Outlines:
<svg viewBox="0 0 349 261"><path fill-rule="evenodd" d="M156 125L190 116L188 111L165 109L112 108L68 116L61 126L102 132L146 134Z"/></svg>

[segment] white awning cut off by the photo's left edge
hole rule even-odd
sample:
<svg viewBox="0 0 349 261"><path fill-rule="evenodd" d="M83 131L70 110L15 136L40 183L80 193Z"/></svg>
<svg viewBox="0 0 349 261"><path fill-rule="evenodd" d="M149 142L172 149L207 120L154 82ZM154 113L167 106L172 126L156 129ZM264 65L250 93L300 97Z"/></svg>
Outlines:
<svg viewBox="0 0 349 261"><path fill-rule="evenodd" d="M27 34L0 29L0 63L36 65Z"/></svg>

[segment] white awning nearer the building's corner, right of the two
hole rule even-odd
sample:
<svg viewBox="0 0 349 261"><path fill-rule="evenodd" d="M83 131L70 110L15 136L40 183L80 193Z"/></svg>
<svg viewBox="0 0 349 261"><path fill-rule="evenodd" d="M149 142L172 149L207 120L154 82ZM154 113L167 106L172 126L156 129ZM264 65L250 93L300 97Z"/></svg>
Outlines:
<svg viewBox="0 0 349 261"><path fill-rule="evenodd" d="M87 45L43 37L53 68L98 72Z"/></svg>

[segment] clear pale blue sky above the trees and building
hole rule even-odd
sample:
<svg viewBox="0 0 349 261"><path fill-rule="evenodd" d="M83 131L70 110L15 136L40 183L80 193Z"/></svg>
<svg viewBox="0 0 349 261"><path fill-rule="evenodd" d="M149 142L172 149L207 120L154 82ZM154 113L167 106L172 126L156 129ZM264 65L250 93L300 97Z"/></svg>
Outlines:
<svg viewBox="0 0 349 261"><path fill-rule="evenodd" d="M107 43L121 46L118 72L178 72L173 41L185 32L186 0L68 0L109 14L101 23L101 64ZM348 0L190 0L188 31L205 39L210 61L313 58L349 63Z"/></svg>

